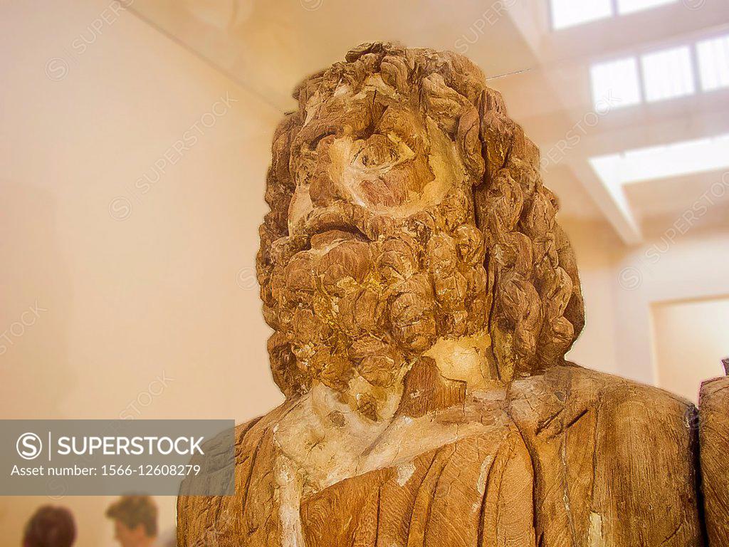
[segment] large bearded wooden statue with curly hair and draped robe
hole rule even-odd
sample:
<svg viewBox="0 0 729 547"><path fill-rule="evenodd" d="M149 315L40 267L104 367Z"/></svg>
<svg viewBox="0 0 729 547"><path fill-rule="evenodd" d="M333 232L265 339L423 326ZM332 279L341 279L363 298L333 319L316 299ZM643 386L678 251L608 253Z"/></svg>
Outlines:
<svg viewBox="0 0 729 547"><path fill-rule="evenodd" d="M179 498L179 546L729 537L726 489L703 508L696 408L564 359L584 322L572 249L480 70L363 44L294 96L257 260L286 402L237 428L235 496Z"/></svg>

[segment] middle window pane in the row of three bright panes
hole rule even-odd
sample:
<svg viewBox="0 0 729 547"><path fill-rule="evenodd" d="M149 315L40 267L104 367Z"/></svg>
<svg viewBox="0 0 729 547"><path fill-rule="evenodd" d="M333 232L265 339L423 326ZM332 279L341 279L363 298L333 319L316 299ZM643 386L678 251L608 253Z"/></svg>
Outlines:
<svg viewBox="0 0 729 547"><path fill-rule="evenodd" d="M645 98L650 103L694 92L691 53L687 46L642 55L641 67Z"/></svg>

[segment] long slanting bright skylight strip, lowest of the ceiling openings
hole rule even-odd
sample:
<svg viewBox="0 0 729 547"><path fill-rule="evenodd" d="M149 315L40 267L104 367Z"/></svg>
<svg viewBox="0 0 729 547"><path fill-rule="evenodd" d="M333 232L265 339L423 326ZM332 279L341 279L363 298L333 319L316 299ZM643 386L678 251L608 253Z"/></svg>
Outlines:
<svg viewBox="0 0 729 547"><path fill-rule="evenodd" d="M729 133L598 156L590 166L609 187L717 171L729 167Z"/></svg>

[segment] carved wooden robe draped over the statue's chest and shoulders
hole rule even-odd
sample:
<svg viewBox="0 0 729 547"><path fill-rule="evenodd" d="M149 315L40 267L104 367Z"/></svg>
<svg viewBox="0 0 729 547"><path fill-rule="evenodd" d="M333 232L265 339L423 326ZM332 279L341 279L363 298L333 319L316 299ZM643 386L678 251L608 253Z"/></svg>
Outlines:
<svg viewBox="0 0 729 547"><path fill-rule="evenodd" d="M585 387L586 384L586 387ZM181 497L185 547L634 547L703 545L695 409L580 369L515 383L507 420L291 495L276 414L240 432L236 495ZM493 423L492 423L493 422ZM432 430L432 428L430 429ZM383 454L390 454L383 452ZM301 490L299 490L301 492Z"/></svg>

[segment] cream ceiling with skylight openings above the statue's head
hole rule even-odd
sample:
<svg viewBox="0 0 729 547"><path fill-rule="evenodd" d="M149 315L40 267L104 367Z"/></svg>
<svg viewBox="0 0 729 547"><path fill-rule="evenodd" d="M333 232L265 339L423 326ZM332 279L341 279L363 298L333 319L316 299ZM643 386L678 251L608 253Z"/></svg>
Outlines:
<svg viewBox="0 0 729 547"><path fill-rule="evenodd" d="M560 31L548 0L135 0L131 9L281 112L295 108L290 90L303 77L361 42L465 53L542 150L560 216L609 222L626 244L670 230L722 179L602 182L590 157L729 133L729 88L596 111L590 65L727 34L727 0L674 1ZM691 228L729 228L727 186Z"/></svg>

